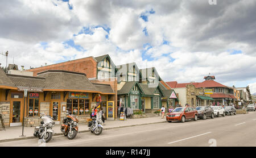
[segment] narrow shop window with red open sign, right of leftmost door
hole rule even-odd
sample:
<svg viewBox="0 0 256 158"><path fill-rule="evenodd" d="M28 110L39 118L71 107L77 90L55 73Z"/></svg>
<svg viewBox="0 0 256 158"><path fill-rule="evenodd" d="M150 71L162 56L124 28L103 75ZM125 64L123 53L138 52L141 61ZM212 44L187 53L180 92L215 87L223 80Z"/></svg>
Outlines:
<svg viewBox="0 0 256 158"><path fill-rule="evenodd" d="M28 99L28 117L35 117L39 114L39 93L30 93Z"/></svg>

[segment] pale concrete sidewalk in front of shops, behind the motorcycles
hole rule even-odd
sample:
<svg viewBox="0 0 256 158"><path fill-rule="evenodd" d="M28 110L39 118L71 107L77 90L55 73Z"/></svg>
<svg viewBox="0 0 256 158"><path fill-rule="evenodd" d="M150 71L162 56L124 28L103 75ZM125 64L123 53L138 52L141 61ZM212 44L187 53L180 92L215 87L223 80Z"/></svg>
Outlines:
<svg viewBox="0 0 256 158"><path fill-rule="evenodd" d="M166 119L162 119L159 117L151 117L151 118L139 118L139 119L126 119L126 120L105 120L104 130L109 130L113 128L122 128L122 127L131 127L131 126L139 126L143 124L153 124L153 123L161 123L166 122ZM0 129L0 142L9 142L14 140L22 140L22 139L32 139L35 138L33 136L35 127L24 127L24 135L26 137L19 137L22 135L22 126L15 127L6 127L6 130ZM53 130L56 135L61 135L60 132L60 124L55 124ZM79 123L79 131L80 132L88 132L87 123ZM53 136L54 136L53 135Z"/></svg>

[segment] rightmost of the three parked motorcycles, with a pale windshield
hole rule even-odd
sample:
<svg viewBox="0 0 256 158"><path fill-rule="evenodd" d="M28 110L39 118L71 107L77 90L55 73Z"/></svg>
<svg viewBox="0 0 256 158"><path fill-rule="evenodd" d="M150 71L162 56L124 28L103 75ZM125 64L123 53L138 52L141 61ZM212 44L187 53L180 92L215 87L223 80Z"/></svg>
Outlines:
<svg viewBox="0 0 256 158"><path fill-rule="evenodd" d="M102 119L100 115L97 114L96 118L92 117L92 121L90 121L88 124L90 132L94 133L95 135L100 135L103 130L103 126L101 124Z"/></svg>

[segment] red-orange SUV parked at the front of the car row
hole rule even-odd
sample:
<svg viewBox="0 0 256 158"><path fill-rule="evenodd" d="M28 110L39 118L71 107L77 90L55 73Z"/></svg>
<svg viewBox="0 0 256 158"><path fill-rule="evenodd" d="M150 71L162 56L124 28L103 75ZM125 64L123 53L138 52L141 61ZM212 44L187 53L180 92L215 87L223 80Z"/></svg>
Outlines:
<svg viewBox="0 0 256 158"><path fill-rule="evenodd" d="M168 113L166 115L166 120L168 122L172 121L180 121L185 122L185 120L193 119L197 120L198 113L195 107L176 107L174 110L172 110L171 113Z"/></svg>

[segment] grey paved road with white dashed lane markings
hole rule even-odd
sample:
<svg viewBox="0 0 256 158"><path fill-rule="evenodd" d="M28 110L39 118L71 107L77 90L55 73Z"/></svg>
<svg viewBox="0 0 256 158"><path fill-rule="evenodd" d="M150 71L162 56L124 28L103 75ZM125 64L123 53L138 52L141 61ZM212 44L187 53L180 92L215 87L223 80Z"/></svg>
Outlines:
<svg viewBox="0 0 256 158"><path fill-rule="evenodd" d="M46 146L106 146L157 147L181 146L253 146L256 147L256 112L226 115L184 123L158 123L143 126L104 130L96 136L90 132L77 134L73 140L54 136ZM0 143L1 146L39 146L38 139Z"/></svg>

